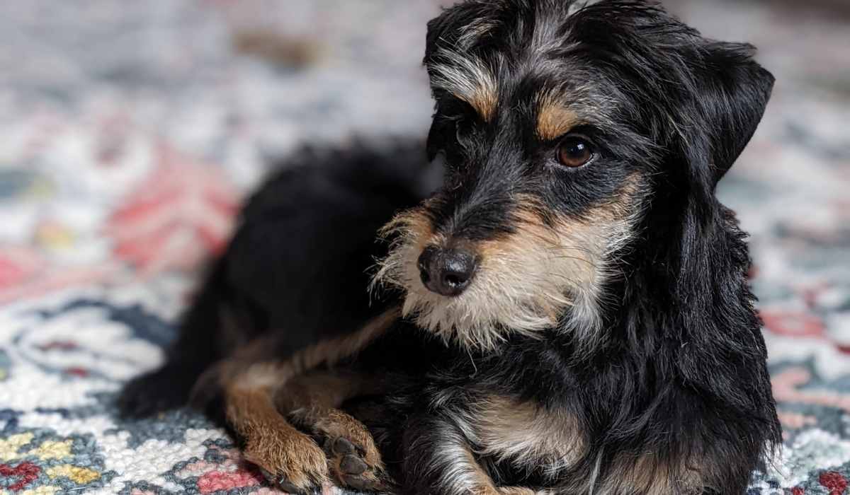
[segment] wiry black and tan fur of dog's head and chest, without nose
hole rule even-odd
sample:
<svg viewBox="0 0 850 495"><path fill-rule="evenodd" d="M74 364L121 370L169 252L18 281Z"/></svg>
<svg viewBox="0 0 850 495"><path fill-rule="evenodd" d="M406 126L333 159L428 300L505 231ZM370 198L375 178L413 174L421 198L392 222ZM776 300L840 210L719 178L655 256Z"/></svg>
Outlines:
<svg viewBox="0 0 850 495"><path fill-rule="evenodd" d="M446 90L432 61L447 50L492 70L491 115ZM405 291L419 326L458 348L432 354L390 401L404 422L382 438L410 492L745 491L779 425L743 234L713 193L773 84L750 51L638 1L471 1L432 21L428 151L445 155L446 183L399 218L378 275ZM562 171L549 154L573 133L599 157ZM605 214L612 205L619 215ZM543 221L521 214L530 210ZM461 295L422 289L414 260L426 245L479 254ZM578 248L568 254L581 262L541 245ZM490 278L490 256L510 260L498 269L509 284ZM551 277L528 276L538 268ZM593 304L576 297L586 294ZM492 397L513 400L503 423L487 419ZM575 430L555 422L537 436L527 416L511 430L523 442L490 442L511 438L505 423L529 409ZM553 442L575 457L559 458Z"/></svg>

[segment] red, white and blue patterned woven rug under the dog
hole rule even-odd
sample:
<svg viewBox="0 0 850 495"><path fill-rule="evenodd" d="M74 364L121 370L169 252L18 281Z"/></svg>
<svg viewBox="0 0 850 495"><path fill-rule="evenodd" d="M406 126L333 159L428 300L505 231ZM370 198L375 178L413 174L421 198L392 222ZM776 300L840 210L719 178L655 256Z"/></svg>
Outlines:
<svg viewBox="0 0 850 495"><path fill-rule="evenodd" d="M125 422L116 391L160 363L274 157L423 135L438 6L0 0L0 494L275 492L206 419ZM846 493L850 29L757 3L670 8L753 42L779 79L719 192L751 233L785 428L751 493Z"/></svg>

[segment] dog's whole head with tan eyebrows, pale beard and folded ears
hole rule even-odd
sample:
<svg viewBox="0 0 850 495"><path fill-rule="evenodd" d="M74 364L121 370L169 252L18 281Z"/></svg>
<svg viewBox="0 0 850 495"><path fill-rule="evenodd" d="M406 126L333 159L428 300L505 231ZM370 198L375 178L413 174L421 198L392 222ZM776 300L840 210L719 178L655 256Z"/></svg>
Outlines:
<svg viewBox="0 0 850 495"><path fill-rule="evenodd" d="M716 205L773 86L749 50L634 0L445 10L425 56L445 185L388 226L376 279L467 345L552 328L592 344L605 280L655 198Z"/></svg>

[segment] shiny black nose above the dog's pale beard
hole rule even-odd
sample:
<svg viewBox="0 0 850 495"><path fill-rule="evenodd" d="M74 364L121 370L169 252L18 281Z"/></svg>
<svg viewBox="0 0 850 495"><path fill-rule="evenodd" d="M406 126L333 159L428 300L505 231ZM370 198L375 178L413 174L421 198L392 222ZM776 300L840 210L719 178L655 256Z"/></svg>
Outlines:
<svg viewBox="0 0 850 495"><path fill-rule="evenodd" d="M440 295L459 295L469 286L478 267L478 259L457 248L429 246L416 262L422 284Z"/></svg>

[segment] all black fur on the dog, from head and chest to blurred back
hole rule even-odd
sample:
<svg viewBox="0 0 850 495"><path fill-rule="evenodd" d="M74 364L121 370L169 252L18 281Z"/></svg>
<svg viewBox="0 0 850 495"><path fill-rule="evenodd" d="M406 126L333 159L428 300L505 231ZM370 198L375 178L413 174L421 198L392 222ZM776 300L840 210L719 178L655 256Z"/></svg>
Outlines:
<svg viewBox="0 0 850 495"><path fill-rule="evenodd" d="M466 36L476 23L487 26L485 34ZM535 42L541 26L556 42ZM655 493L615 479L623 466L643 469L638 456L650 454L658 472L680 464L699 471L695 493L745 492L780 429L746 283L745 235L714 190L755 132L773 86L750 52L707 41L662 9L632 0L585 8L473 0L428 25L432 76L445 53L462 53L494 70L499 87L490 121L434 89L428 155L446 160L445 185L424 206L435 232L472 243L517 234L511 212L529 196L543 205L544 221L596 222L588 211L618 201L634 177L640 200L630 235L604 260L615 275L599 288L598 319L582 330L592 332L591 346L577 340L570 308L551 328L506 332L488 349L437 340L408 318L348 363L396 384L377 398L384 412L373 427L404 492L466 492L451 475L457 459L446 446L479 451L467 430L492 396L569 414L588 439L581 458L555 472L476 455L498 486ZM587 166L557 166L560 138L534 132L534 98L551 87L573 95L585 115L570 134L592 143L596 158ZM392 187L372 188L392 167L339 159L340 166L285 173L252 200L169 367L200 374L211 356L224 355L193 349L218 328L193 322L214 318L212 308L223 302L245 301L248 319L260 322L247 328L280 334L282 358L353 331L379 309L369 309L362 275L369 256L381 254L371 238L393 211L420 200L410 192L419 178L411 172L399 181L394 172ZM412 155L393 161L406 171L425 169ZM346 172L349 166L357 172ZM399 188L408 192L387 194ZM145 380L127 397L150 390ZM181 391L187 383L178 382ZM154 403L141 397L135 408Z"/></svg>

